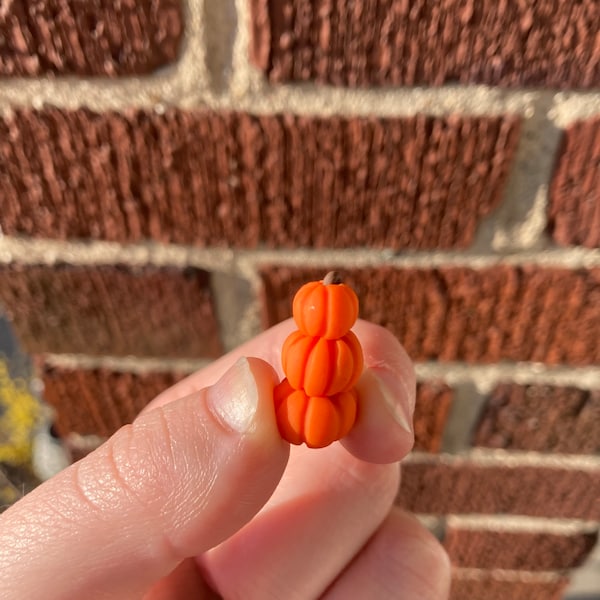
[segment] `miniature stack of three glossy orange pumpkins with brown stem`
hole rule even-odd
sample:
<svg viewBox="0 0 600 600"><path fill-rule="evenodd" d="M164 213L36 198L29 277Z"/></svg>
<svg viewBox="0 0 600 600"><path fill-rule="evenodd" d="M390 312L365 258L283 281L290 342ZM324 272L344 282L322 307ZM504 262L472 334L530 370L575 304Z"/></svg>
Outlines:
<svg viewBox="0 0 600 600"><path fill-rule="evenodd" d="M298 290L292 307L298 330L281 351L286 378L275 388L281 437L292 444L323 448L354 425L354 384L363 369L358 338L358 298L335 272Z"/></svg>

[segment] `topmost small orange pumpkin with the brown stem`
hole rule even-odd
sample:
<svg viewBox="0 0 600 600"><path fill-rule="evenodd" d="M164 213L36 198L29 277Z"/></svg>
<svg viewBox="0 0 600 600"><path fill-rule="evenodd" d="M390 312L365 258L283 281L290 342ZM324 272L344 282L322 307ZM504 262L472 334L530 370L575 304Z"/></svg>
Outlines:
<svg viewBox="0 0 600 600"><path fill-rule="evenodd" d="M358 318L358 298L336 273L303 285L292 305L298 329L311 337L335 340L344 337Z"/></svg>

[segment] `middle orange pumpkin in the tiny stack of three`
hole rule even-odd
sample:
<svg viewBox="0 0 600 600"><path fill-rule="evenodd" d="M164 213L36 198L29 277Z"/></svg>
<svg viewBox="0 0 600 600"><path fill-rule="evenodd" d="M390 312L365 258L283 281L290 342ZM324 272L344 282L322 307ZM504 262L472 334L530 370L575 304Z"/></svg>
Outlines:
<svg viewBox="0 0 600 600"><path fill-rule="evenodd" d="M290 385L308 396L345 392L363 369L362 348L351 331L336 340L294 331L283 344L281 360Z"/></svg>

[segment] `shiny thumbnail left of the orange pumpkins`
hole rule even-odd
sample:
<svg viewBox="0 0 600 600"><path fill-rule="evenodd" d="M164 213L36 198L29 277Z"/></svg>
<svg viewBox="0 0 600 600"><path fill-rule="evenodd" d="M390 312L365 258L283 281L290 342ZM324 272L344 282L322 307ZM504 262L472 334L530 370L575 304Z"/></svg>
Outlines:
<svg viewBox="0 0 600 600"><path fill-rule="evenodd" d="M258 408L258 388L248 359L238 359L208 389L206 403L226 429L239 433L250 429Z"/></svg>

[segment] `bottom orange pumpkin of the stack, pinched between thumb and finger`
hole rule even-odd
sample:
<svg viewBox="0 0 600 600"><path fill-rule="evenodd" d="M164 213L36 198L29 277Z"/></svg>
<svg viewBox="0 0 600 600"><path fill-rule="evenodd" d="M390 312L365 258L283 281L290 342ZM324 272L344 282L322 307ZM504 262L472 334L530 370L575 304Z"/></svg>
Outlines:
<svg viewBox="0 0 600 600"><path fill-rule="evenodd" d="M273 392L281 437L291 444L324 448L343 438L356 421L354 388L333 396L308 396L284 379Z"/></svg>

